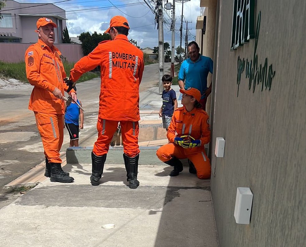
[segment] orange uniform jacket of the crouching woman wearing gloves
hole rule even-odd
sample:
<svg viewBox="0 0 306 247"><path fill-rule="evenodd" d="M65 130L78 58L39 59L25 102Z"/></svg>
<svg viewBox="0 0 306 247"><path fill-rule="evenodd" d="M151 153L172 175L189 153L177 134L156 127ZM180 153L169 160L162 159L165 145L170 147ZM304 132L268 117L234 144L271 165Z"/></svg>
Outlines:
<svg viewBox="0 0 306 247"><path fill-rule="evenodd" d="M177 132L177 135L175 135ZM209 117L206 111L194 108L188 112L185 108L179 107L174 110L171 123L168 128L167 138L174 143L174 137L191 136L195 140L201 140L201 146L184 149L188 153L202 152L204 145L210 141Z"/></svg>

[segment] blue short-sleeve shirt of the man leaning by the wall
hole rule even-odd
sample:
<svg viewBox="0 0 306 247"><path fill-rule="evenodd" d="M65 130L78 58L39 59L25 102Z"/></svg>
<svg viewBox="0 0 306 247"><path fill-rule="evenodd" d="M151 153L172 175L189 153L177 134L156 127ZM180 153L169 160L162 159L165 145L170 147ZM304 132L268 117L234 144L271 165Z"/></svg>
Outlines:
<svg viewBox="0 0 306 247"><path fill-rule="evenodd" d="M197 88L201 93L207 88L208 73L213 72L214 63L210 57L200 55L196 62L184 60L179 70L179 80L184 81L185 89ZM204 98L204 97L202 97Z"/></svg>

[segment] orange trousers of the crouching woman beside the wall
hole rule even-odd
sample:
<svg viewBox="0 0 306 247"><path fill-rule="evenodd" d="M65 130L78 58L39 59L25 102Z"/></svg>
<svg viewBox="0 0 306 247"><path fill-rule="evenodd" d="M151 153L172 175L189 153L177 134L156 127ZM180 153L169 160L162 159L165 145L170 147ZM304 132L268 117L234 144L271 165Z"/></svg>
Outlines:
<svg viewBox="0 0 306 247"><path fill-rule="evenodd" d="M204 148L202 152L192 153L174 143L168 143L161 146L156 151L156 155L163 162L169 161L173 156L178 159L190 159L197 170L198 178L207 179L211 176L211 165Z"/></svg>

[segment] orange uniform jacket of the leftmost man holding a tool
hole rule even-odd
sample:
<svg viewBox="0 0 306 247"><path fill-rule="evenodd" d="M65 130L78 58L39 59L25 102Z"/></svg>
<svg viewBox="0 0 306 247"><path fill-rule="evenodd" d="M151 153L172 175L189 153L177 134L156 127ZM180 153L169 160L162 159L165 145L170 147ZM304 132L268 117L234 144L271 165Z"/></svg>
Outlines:
<svg viewBox="0 0 306 247"><path fill-rule="evenodd" d="M31 94L29 109L42 113L64 114L64 101L53 95L58 88L67 91L68 86L61 53L53 46L54 52L40 39L25 52L26 77L34 89ZM73 89L70 92L75 92Z"/></svg>

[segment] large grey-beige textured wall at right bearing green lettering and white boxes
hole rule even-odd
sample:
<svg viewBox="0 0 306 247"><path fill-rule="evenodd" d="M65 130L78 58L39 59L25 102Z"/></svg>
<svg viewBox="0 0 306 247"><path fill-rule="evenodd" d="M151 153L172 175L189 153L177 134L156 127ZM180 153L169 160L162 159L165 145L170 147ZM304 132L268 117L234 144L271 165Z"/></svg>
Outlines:
<svg viewBox="0 0 306 247"><path fill-rule="evenodd" d="M256 1L258 66L267 58L275 77L270 91L259 84L253 93L244 72L239 97L237 58L253 60L254 40L230 52L233 2L220 0L214 60L213 150L216 137L225 139L224 158L211 158L220 246L305 246L306 2ZM237 187L254 195L249 225L234 219Z"/></svg>

